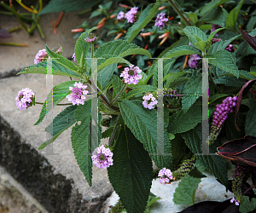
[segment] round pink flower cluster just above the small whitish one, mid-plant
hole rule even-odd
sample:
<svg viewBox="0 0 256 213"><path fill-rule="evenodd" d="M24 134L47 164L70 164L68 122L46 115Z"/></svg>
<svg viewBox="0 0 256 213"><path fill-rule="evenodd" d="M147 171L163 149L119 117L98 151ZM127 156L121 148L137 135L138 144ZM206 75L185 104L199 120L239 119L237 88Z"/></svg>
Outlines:
<svg viewBox="0 0 256 213"><path fill-rule="evenodd" d="M137 84L139 79L142 79L143 76L138 73L141 73L142 70L138 66L130 65L125 67L124 71L120 74L120 77L125 79L125 83L128 84Z"/></svg>

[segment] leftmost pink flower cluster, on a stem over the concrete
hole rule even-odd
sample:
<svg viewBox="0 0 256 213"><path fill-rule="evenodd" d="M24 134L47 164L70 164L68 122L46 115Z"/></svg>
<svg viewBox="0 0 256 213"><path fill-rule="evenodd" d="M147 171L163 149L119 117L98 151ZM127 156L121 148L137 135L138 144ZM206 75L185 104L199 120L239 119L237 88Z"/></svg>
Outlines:
<svg viewBox="0 0 256 213"><path fill-rule="evenodd" d="M35 94L32 92L32 89L26 88L21 89L15 98L16 106L19 109L25 110L26 108L30 107L30 103L32 102L32 98Z"/></svg>

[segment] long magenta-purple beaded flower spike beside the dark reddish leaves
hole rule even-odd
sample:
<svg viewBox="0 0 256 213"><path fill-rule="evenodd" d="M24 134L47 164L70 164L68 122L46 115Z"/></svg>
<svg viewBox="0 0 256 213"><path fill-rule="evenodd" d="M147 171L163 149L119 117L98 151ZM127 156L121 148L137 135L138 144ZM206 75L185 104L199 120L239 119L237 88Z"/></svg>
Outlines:
<svg viewBox="0 0 256 213"><path fill-rule="evenodd" d="M224 120L228 118L228 114L233 112L233 107L236 107L237 97L227 97L222 104L216 106L216 110L213 115L212 120L212 130L209 136L209 143L211 144L216 140Z"/></svg>

